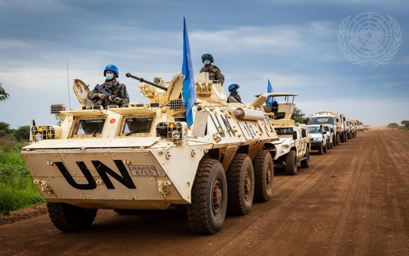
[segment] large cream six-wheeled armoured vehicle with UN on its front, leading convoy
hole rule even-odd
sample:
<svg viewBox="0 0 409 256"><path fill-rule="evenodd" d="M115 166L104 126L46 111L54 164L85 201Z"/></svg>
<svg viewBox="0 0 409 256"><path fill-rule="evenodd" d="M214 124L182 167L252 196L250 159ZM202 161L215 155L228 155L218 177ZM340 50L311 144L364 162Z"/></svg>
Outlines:
<svg viewBox="0 0 409 256"><path fill-rule="evenodd" d="M193 232L214 234L226 213L248 214L253 199L271 198L273 161L265 145L278 136L262 109L227 104L223 86L199 73L188 127L182 73L168 83L127 77L142 82L149 102L104 109L75 79L80 109L51 105L61 125L32 120L32 143L22 156L59 230L86 229L97 209L182 207Z"/></svg>

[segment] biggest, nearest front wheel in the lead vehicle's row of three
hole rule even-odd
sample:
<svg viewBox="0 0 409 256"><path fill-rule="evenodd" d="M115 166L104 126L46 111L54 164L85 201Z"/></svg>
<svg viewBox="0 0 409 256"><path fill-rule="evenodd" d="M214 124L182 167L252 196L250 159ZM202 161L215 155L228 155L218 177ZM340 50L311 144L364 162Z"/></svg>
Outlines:
<svg viewBox="0 0 409 256"><path fill-rule="evenodd" d="M200 161L191 194L192 203L186 207L191 230L196 234L219 232L227 209L227 182L219 161Z"/></svg>

